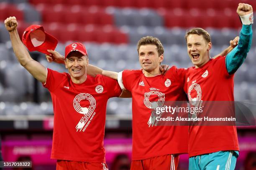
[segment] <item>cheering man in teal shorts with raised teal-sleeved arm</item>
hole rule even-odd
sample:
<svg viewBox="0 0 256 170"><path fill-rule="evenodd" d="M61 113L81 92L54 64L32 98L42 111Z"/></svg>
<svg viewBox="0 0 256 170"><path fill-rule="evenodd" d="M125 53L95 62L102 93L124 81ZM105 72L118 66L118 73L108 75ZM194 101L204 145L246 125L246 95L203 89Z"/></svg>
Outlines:
<svg viewBox="0 0 256 170"><path fill-rule="evenodd" d="M227 56L210 59L212 47L210 35L202 28L193 28L186 34L187 51L195 67L187 69L185 91L190 104L195 107L210 105L209 101L222 101L218 107L225 108L216 113L216 102L207 107L204 115L229 114L230 102L234 101L234 73L246 58L251 47L253 10L251 5L240 3L237 8L243 27L238 46ZM226 102L225 102L226 101ZM205 109L205 108L204 108ZM232 112L232 109L231 109ZM199 113L201 114L201 113ZM206 116L207 116L206 115ZM215 125L218 122L215 123ZM196 125L189 127L189 170L235 169L238 157L236 127Z"/></svg>

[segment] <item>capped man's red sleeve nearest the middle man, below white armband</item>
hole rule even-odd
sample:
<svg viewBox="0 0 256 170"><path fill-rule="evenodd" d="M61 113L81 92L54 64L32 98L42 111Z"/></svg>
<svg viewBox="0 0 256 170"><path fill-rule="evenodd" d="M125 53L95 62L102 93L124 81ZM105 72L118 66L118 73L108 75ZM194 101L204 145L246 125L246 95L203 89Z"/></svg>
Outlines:
<svg viewBox="0 0 256 170"><path fill-rule="evenodd" d="M109 97L119 97L122 93L122 90L118 85L118 81L110 77L103 76L103 78L105 79L105 85L108 88Z"/></svg>

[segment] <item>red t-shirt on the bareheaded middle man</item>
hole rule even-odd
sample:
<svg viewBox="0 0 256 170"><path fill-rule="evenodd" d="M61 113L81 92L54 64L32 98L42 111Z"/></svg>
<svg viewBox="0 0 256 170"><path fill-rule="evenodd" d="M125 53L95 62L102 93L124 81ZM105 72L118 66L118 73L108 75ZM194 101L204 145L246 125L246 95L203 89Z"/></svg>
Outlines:
<svg viewBox="0 0 256 170"><path fill-rule="evenodd" d="M151 101L184 101L184 69L170 68L164 75L146 77L140 70L124 70L124 87L132 94L132 160L187 153L187 126L151 126Z"/></svg>

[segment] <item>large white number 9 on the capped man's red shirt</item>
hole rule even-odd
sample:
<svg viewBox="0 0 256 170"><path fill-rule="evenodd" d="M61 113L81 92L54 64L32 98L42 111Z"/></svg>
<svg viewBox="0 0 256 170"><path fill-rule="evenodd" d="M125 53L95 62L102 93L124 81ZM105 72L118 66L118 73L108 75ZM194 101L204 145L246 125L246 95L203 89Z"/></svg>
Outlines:
<svg viewBox="0 0 256 170"><path fill-rule="evenodd" d="M80 102L82 100L89 100L90 106L88 108L81 107ZM88 93L80 93L79 95L74 97L73 106L77 112L79 112L80 114L83 114L82 118L80 119L80 121L78 122L78 124L76 126L77 131L78 130L81 131L84 128L84 125L86 125L86 123L92 117L92 114L96 107L96 100L94 97L92 97L92 95L90 95ZM88 123L90 123L90 122L88 122Z"/></svg>

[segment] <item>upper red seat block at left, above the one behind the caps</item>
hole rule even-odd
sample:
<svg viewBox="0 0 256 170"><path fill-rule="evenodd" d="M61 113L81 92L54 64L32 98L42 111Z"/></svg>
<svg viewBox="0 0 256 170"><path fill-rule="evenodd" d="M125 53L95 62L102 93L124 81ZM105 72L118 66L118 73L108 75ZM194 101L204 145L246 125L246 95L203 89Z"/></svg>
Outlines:
<svg viewBox="0 0 256 170"><path fill-rule="evenodd" d="M113 15L105 13L98 7L81 7L78 5L44 5L36 6L41 12L43 22L81 23L96 25L113 25Z"/></svg>

